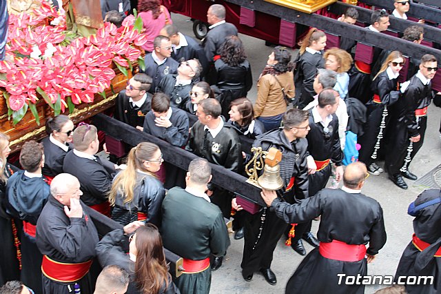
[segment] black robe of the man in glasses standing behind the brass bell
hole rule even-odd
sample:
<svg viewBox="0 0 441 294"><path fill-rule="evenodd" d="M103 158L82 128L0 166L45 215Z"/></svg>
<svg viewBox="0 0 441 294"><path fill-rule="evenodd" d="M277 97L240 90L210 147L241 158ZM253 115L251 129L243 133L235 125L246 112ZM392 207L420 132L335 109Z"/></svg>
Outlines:
<svg viewBox="0 0 441 294"><path fill-rule="evenodd" d="M289 142L283 133L283 128L277 128L257 137L253 145L261 146L262 150L274 147L282 152L280 177L283 179L283 188L279 192L283 195L283 199L293 203L308 198L306 139L296 139ZM294 188L286 191L291 177L295 177ZM240 266L243 276L246 277L259 271L260 268L271 267L274 249L278 239L287 228L287 222L276 217L274 211L268 208L262 208L254 215L245 212L245 215L245 243ZM263 221L262 218L264 218ZM260 227L263 229L258 237Z"/></svg>

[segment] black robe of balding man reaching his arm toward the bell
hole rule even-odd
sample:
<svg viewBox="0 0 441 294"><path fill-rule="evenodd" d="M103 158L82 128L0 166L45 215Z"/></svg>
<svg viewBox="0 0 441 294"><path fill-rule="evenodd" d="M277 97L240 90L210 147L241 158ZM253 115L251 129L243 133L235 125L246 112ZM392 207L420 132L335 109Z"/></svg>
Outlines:
<svg viewBox="0 0 441 294"><path fill-rule="evenodd" d="M279 198L271 210L285 222L307 222L321 215L317 237L320 242L337 240L367 244L367 254L376 255L386 243L382 208L361 193L325 189L301 204L290 205ZM367 260L342 262L320 255L318 248L302 260L287 283L285 293L364 293L365 285L338 284L338 275L367 275Z"/></svg>

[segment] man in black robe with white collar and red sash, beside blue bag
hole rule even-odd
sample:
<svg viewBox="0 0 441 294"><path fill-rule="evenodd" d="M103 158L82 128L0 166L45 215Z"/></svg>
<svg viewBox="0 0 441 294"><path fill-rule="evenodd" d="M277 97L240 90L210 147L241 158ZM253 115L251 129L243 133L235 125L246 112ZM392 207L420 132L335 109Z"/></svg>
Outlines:
<svg viewBox="0 0 441 294"><path fill-rule="evenodd" d="M309 196L325 188L331 176L331 162L336 165L336 181L343 175L343 152L338 136L336 110L340 101L339 94L332 88L322 90L318 95L318 106L309 110L308 167ZM311 222L297 224L296 235L291 239L291 247L300 255L306 255L302 238L311 246L317 247L318 240L311 234Z"/></svg>

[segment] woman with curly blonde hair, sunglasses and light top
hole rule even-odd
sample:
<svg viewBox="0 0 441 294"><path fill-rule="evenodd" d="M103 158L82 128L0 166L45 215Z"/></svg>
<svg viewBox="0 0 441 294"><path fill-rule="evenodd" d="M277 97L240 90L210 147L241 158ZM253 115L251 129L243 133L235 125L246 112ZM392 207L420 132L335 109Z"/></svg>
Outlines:
<svg viewBox="0 0 441 294"><path fill-rule="evenodd" d="M337 72L337 83L334 90L340 93L340 98L345 100L349 87L349 75L353 59L351 55L340 48L331 48L325 51L325 68Z"/></svg>

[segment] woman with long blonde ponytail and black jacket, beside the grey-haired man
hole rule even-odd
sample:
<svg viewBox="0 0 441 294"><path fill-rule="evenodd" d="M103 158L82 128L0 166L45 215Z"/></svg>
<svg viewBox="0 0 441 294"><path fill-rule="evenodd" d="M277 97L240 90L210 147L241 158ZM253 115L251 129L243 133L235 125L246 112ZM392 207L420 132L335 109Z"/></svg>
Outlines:
<svg viewBox="0 0 441 294"><path fill-rule="evenodd" d="M161 224L165 189L154 173L163 161L156 144L142 142L130 150L127 168L116 175L110 190L112 219L123 226L136 220Z"/></svg>

